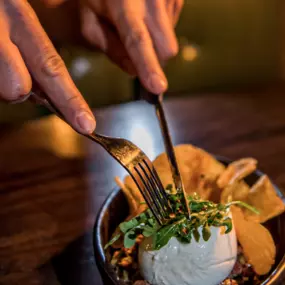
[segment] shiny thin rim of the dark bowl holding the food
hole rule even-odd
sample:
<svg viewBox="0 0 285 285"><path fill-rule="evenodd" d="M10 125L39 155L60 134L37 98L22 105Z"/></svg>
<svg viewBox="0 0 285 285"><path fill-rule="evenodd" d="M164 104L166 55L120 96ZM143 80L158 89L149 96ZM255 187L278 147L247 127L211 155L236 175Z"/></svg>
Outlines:
<svg viewBox="0 0 285 285"><path fill-rule="evenodd" d="M219 162L224 164L229 164L233 162L234 160L219 156L219 155L213 155L215 159L217 159ZM256 174L257 176L261 177L262 175L266 175L264 172L260 171L259 169L256 169L253 174ZM272 181L271 181L272 182ZM282 200L285 200L285 194L281 191L281 189L273 183L273 186L275 188L275 191L277 194L282 198ZM113 281L114 284L118 283L118 280L115 280L113 276L108 272L106 268L106 257L104 254L104 248L102 244L101 234L100 234L100 227L103 221L103 217L105 215L105 212L108 210L108 207L110 206L110 203L112 200L118 195L119 192L122 190L119 187L115 187L111 193L107 196L105 201L103 202L102 206L100 207L97 218L95 221L95 225L93 227L93 251L95 255L96 264L98 267L101 267L101 269L104 271L104 273ZM284 241L285 242L285 241ZM100 270L100 268L98 268ZM271 274L266 278L260 285L281 285L281 282L284 282L285 280L285 253L277 265L277 267L271 272Z"/></svg>

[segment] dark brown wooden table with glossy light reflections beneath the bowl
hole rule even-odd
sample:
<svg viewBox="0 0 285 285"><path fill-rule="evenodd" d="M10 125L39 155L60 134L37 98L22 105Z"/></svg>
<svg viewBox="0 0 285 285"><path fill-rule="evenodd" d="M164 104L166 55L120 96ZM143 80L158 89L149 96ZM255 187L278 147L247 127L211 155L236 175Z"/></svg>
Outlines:
<svg viewBox="0 0 285 285"><path fill-rule="evenodd" d="M175 144L240 158L285 186L285 96L274 89L166 103ZM163 151L152 106L95 110L97 131L150 158ZM96 213L124 170L100 146L51 116L0 127L0 284L101 285L92 249Z"/></svg>

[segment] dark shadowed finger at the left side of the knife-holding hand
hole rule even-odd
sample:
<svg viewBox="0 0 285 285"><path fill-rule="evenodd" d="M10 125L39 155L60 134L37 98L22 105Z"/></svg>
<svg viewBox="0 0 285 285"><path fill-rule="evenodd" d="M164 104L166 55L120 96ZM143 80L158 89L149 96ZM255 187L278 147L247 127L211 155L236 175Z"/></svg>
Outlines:
<svg viewBox="0 0 285 285"><path fill-rule="evenodd" d="M136 69L114 29L103 20L100 21L88 6L82 7L81 17L82 33L85 38L105 52L123 71L132 76L137 75Z"/></svg>

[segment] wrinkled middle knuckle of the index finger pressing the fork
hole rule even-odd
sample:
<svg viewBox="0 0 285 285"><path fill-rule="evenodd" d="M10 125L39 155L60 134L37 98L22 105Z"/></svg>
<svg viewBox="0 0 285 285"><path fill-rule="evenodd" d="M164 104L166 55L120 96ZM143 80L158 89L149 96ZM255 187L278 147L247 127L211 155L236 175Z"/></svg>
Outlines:
<svg viewBox="0 0 285 285"><path fill-rule="evenodd" d="M65 72L65 64L61 57L55 51L48 51L44 54L41 71L49 77L62 75Z"/></svg>

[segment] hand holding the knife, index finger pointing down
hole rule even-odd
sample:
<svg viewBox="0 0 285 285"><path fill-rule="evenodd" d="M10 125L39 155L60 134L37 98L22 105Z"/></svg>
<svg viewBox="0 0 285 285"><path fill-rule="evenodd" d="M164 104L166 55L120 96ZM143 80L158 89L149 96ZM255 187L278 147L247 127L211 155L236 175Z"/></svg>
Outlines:
<svg viewBox="0 0 285 285"><path fill-rule="evenodd" d="M51 0L46 0L51 1ZM183 0L82 0L82 31L153 93L167 89L160 62L175 56Z"/></svg>

